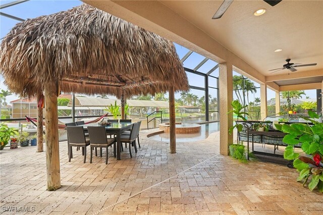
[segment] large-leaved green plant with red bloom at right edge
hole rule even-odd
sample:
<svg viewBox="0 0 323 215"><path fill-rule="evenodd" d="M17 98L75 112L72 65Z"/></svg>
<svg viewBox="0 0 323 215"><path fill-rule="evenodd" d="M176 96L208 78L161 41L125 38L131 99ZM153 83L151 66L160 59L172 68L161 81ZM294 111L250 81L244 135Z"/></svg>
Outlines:
<svg viewBox="0 0 323 215"><path fill-rule="evenodd" d="M310 118L317 119L318 114L308 111ZM284 158L294 160L293 166L300 172L297 181L303 181L303 186L308 183L310 191L317 188L323 193L323 123L302 117L313 123L313 126L295 123L291 125L276 124L278 130L287 133L283 138L283 142L288 146L284 152ZM301 143L302 150L307 156L300 156L294 152L294 145Z"/></svg>

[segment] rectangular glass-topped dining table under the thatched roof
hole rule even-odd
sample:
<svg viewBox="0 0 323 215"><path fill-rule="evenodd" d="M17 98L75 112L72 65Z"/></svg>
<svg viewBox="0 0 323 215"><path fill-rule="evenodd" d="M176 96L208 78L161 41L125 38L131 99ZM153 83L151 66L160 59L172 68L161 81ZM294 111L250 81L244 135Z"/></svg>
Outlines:
<svg viewBox="0 0 323 215"><path fill-rule="evenodd" d="M120 142L120 136L121 133L130 130L132 128L133 123L112 123L111 125L106 125L105 127L105 131L107 134L116 134L117 136L117 159L120 160L121 159L121 154L120 154L120 150L121 150L121 142ZM89 124L85 124L85 125L80 125L83 126L84 132L87 132L87 127L88 126L102 126L102 125L98 125L98 123L89 123Z"/></svg>

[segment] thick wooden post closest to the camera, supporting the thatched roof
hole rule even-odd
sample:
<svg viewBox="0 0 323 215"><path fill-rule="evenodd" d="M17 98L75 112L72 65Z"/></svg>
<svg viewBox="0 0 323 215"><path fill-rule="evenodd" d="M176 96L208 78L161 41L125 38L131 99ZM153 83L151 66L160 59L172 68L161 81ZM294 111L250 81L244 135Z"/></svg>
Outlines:
<svg viewBox="0 0 323 215"><path fill-rule="evenodd" d="M61 187L57 89L57 83L45 84L45 140L48 191L57 190Z"/></svg>

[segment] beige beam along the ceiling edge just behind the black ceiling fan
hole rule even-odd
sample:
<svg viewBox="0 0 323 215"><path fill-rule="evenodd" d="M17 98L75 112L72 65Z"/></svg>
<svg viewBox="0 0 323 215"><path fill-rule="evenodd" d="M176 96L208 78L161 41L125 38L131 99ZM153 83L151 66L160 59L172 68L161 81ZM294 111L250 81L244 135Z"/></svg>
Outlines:
<svg viewBox="0 0 323 215"><path fill-rule="evenodd" d="M310 70L304 72L292 72L290 74L282 74L282 75L273 75L266 76L266 82L273 81L282 81L282 80L290 80L290 79L298 79L298 78L309 78L309 77L317 77L323 75L323 69L319 70Z"/></svg>

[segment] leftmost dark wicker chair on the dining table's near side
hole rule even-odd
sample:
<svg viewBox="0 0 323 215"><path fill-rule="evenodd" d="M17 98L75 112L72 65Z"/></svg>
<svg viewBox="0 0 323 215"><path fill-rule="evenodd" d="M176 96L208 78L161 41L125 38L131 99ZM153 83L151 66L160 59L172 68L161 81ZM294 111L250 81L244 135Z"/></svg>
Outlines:
<svg viewBox="0 0 323 215"><path fill-rule="evenodd" d="M86 146L90 145L89 138L86 138L83 131L83 126L67 126L67 138L69 142L69 162L73 157L72 146L82 147L82 154L84 155L84 162L86 161Z"/></svg>

